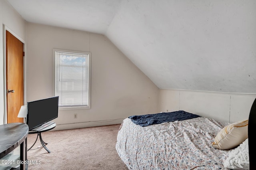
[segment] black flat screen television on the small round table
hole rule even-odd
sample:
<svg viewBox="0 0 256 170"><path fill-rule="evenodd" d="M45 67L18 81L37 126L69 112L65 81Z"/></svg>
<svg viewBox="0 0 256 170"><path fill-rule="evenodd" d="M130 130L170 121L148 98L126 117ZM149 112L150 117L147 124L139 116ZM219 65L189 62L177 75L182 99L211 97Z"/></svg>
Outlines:
<svg viewBox="0 0 256 170"><path fill-rule="evenodd" d="M28 130L57 118L58 104L58 96L27 102L26 124L28 125Z"/></svg>

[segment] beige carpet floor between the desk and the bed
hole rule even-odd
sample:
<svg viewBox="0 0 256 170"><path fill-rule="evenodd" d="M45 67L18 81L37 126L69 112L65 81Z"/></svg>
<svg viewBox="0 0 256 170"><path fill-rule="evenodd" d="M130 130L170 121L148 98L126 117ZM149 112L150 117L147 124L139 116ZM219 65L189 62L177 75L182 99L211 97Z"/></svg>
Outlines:
<svg viewBox="0 0 256 170"><path fill-rule="evenodd" d="M58 130L42 133L28 151L28 170L127 170L115 148L120 125ZM28 134L28 148L37 134ZM41 146L40 148L38 148ZM35 162L39 162L36 164ZM41 162L41 163L40 163Z"/></svg>

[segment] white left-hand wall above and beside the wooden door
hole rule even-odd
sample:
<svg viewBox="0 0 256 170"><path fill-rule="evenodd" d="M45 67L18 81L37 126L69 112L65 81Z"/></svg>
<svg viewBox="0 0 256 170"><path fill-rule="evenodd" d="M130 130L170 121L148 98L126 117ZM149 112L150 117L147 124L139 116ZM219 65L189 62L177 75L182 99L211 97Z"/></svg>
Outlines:
<svg viewBox="0 0 256 170"><path fill-rule="evenodd" d="M4 124L5 116L5 29L14 36L26 41L26 24L22 17L5 0L0 0L0 125ZM4 29L3 29L4 26ZM25 45L26 46L26 45ZM25 50L26 53L26 50ZM25 56L26 57L26 56Z"/></svg>

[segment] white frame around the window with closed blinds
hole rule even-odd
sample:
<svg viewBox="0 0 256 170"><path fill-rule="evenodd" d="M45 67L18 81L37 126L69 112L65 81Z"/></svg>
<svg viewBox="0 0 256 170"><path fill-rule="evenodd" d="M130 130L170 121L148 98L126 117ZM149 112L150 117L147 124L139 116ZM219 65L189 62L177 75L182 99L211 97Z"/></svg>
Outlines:
<svg viewBox="0 0 256 170"><path fill-rule="evenodd" d="M52 64L52 93L53 95L55 96L55 76L56 76L56 51L61 51L61 52L68 52L68 53L80 53L80 54L87 54L89 57L89 64L88 64L88 76L89 76L89 79L88 79L88 106L76 106L76 105L73 105L73 106L68 106L68 107L65 107L65 106L62 106L62 107L59 107L59 109L90 109L91 106L90 106L90 103L91 103L91 53L90 52L87 52L87 51L74 51L74 50L67 50L67 49L52 49L52 58L53 58L53 64Z"/></svg>

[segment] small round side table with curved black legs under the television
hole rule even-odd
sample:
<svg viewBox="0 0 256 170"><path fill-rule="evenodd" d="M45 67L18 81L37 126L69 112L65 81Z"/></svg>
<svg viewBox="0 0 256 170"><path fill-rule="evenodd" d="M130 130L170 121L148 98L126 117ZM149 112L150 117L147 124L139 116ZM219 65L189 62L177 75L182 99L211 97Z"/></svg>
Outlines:
<svg viewBox="0 0 256 170"><path fill-rule="evenodd" d="M45 146L48 143L44 142L44 140L42 139L41 133L49 131L49 130L52 130L53 128L56 127L56 123L54 123L54 122L51 122L51 123L48 123L48 124L46 123L46 124L44 124L42 126L43 126L43 128L41 130L34 130L34 129L32 129L31 131L28 131L28 134L35 134L35 133L37 133L36 141L37 141L38 136L39 136L40 142L41 142L42 146L47 150L48 153L50 153L50 150L48 148L46 148L46 146ZM46 127L44 127L44 126L46 126ZM30 148L28 148L28 150L30 150L36 144L36 141L34 142L34 144Z"/></svg>

